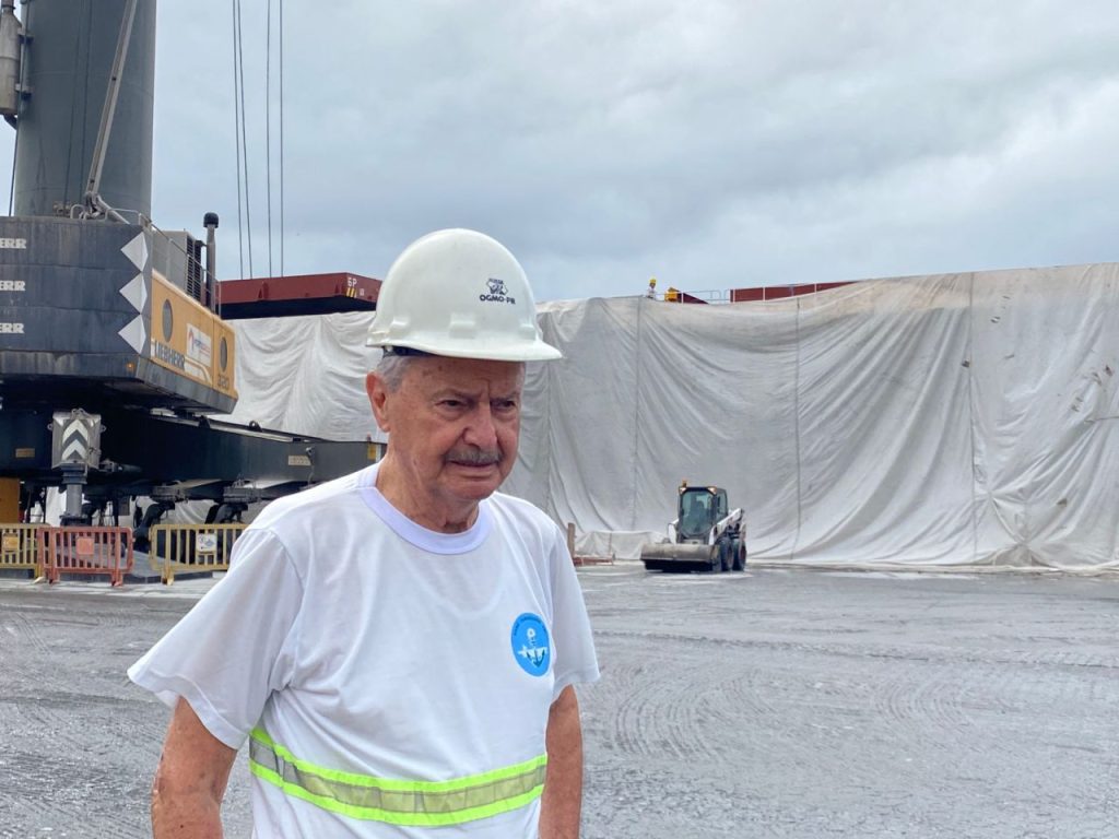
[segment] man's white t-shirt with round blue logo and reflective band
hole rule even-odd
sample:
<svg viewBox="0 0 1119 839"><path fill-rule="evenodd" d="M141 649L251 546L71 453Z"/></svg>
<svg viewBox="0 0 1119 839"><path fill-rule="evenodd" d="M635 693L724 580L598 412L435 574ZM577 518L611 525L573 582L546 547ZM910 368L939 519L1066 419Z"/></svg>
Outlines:
<svg viewBox="0 0 1119 839"><path fill-rule="evenodd" d="M372 466L270 505L226 577L129 676L168 705L187 699L233 748L253 732L261 839L536 837L539 786L517 784L543 774L552 701L599 676L563 535L500 493L469 530L427 530L375 478ZM478 801L452 792L491 777L504 803L453 823ZM427 790L417 809L459 816L389 823L413 789ZM388 821L369 816L380 808Z"/></svg>

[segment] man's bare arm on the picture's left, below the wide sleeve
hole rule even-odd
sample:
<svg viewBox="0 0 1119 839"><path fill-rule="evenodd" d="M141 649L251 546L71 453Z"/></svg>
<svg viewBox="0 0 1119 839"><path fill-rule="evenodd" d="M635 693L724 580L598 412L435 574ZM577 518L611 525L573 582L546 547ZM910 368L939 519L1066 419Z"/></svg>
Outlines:
<svg viewBox="0 0 1119 839"><path fill-rule="evenodd" d="M222 798L236 756L179 699L151 790L153 839L222 839Z"/></svg>

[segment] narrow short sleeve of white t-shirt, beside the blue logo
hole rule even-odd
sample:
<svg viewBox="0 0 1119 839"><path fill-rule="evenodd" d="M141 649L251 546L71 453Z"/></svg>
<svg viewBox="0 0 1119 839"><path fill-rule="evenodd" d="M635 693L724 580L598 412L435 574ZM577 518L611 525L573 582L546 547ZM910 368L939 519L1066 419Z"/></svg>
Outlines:
<svg viewBox="0 0 1119 839"><path fill-rule="evenodd" d="M552 634L555 647L555 687L553 698L568 685L599 680L599 661L594 652L591 620L583 602L583 590L575 565L567 554L563 535L556 530L551 555L552 565Z"/></svg>

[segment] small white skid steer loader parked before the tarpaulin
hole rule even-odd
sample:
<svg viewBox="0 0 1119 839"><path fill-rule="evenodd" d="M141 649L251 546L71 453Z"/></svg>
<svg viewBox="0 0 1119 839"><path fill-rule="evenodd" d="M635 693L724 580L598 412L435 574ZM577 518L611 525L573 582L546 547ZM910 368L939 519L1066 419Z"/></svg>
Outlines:
<svg viewBox="0 0 1119 839"><path fill-rule="evenodd" d="M726 490L680 484L668 540L645 545L647 571L744 571L746 522L742 508L727 510Z"/></svg>

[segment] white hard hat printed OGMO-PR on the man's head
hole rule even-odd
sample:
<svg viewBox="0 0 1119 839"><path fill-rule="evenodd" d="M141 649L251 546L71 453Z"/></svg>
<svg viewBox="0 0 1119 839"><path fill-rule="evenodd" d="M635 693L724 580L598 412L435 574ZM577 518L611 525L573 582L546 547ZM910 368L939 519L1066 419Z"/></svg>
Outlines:
<svg viewBox="0 0 1119 839"><path fill-rule="evenodd" d="M436 230L402 253L380 286L369 347L453 358L546 361L536 303L520 264L474 230Z"/></svg>

